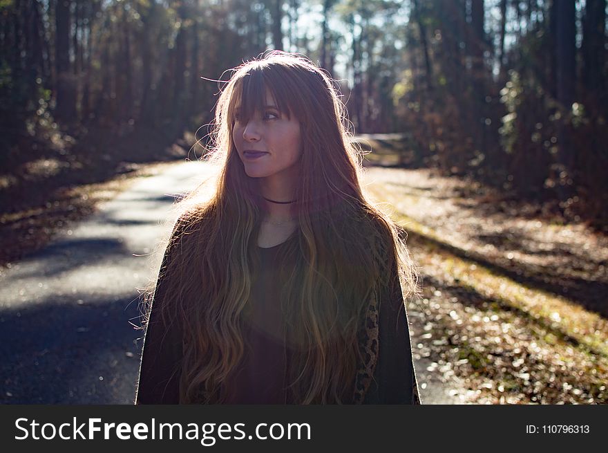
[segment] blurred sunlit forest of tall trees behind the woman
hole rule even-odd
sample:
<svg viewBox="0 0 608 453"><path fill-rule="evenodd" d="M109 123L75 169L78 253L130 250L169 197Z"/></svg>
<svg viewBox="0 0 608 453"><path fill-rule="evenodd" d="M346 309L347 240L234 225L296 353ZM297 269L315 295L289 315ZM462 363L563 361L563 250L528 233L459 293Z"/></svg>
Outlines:
<svg viewBox="0 0 608 453"><path fill-rule="evenodd" d="M158 159L160 143L166 154L212 120L218 84L201 77L278 48L340 80L354 131L402 133L398 165L468 175L605 229L605 11L605 0L1 0L0 193L15 204L36 178L91 182Z"/></svg>

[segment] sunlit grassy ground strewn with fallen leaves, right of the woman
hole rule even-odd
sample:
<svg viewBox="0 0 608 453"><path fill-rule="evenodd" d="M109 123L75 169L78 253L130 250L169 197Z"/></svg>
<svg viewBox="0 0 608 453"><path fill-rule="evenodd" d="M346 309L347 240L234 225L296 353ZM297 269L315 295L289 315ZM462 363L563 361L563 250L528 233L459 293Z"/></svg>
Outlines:
<svg viewBox="0 0 608 453"><path fill-rule="evenodd" d="M406 227L415 354L471 403L608 402L608 239L428 169L369 167Z"/></svg>

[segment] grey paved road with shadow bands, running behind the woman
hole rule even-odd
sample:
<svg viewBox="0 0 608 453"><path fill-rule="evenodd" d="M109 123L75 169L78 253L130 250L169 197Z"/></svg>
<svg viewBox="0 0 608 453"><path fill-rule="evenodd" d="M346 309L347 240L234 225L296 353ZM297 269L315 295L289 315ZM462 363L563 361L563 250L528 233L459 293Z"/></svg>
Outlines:
<svg viewBox="0 0 608 453"><path fill-rule="evenodd" d="M0 270L0 403L133 403L142 348L131 324L139 324L136 288L158 272L153 252L171 230L175 196L208 171L178 163L142 178L41 252ZM424 403L450 403L425 376Z"/></svg>

